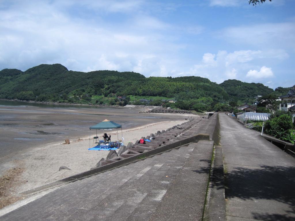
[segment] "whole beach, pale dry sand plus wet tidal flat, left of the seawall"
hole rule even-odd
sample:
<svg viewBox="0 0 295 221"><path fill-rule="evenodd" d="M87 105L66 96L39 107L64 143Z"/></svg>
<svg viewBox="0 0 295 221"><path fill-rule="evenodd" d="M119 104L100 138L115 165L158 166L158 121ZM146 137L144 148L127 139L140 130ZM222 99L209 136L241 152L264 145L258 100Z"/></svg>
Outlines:
<svg viewBox="0 0 295 221"><path fill-rule="evenodd" d="M123 143L127 146L150 133L186 122L189 116L197 117L142 114L138 113L140 109L135 109L0 105L0 142L4 144L0 147L0 178L3 178L0 184L3 187L3 182L6 183L4 190L0 188L0 201L1 191L12 203L19 199L17 197L22 198L21 192L95 167L109 151L88 150L89 143L90 147L95 146L93 137L96 136L96 131L91 130L89 142L89 126L106 118L122 125ZM97 134L101 139L103 133L108 133L115 141L118 137L122 139L121 129L118 132L118 136L116 129L98 130ZM65 144L65 139L69 139L70 144ZM71 170L59 171L61 166ZM8 172L11 178L5 179Z"/></svg>

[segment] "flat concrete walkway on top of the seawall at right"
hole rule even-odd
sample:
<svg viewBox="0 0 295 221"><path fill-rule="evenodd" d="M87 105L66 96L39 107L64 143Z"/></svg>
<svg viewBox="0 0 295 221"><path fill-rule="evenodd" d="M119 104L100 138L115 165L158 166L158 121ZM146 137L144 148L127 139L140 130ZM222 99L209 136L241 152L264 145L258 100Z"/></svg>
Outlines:
<svg viewBox="0 0 295 221"><path fill-rule="evenodd" d="M295 159L219 114L227 221L295 220Z"/></svg>

